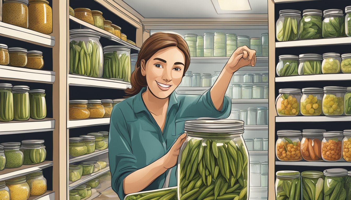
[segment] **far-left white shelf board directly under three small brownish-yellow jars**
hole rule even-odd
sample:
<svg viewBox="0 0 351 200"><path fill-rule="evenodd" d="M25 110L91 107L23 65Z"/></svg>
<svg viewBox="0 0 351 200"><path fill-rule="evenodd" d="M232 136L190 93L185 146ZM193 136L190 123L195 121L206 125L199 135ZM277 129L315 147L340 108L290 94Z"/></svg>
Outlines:
<svg viewBox="0 0 351 200"><path fill-rule="evenodd" d="M0 78L15 81L54 83L55 72L0 65Z"/></svg>

